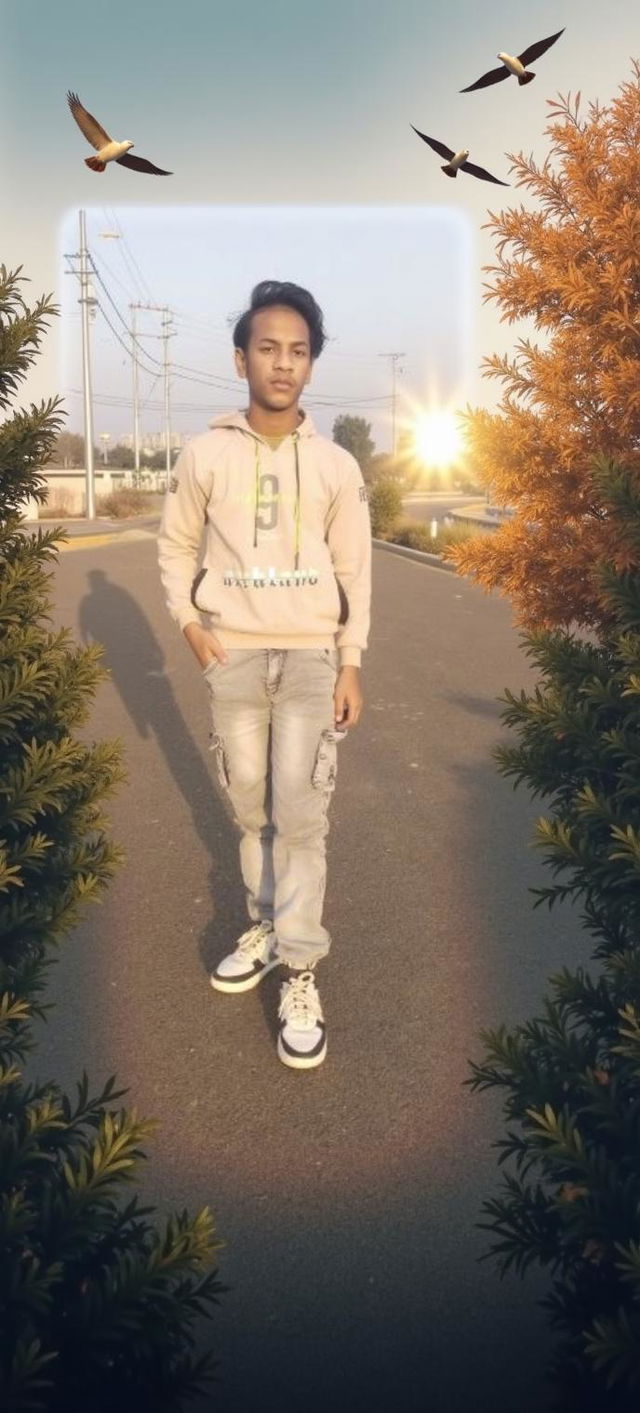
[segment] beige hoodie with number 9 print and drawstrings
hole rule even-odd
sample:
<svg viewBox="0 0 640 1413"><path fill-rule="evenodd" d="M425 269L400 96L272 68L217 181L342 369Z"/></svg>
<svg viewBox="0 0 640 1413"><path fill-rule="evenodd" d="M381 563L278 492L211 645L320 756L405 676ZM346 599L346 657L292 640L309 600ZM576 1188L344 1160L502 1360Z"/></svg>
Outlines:
<svg viewBox="0 0 640 1413"><path fill-rule="evenodd" d="M209 425L181 451L164 500L171 617L203 622L227 649L338 647L340 667L360 666L372 526L356 459L305 414L275 451L244 413Z"/></svg>

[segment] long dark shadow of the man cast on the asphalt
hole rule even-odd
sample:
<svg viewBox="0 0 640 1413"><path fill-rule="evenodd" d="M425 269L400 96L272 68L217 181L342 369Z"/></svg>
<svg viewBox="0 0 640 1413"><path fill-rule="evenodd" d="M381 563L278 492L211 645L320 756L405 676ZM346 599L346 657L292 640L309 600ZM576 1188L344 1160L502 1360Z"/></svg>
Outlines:
<svg viewBox="0 0 640 1413"><path fill-rule="evenodd" d="M90 569L88 578L90 591L78 608L82 642L97 642L105 647L103 666L109 668L136 731L143 739L155 736L189 807L194 829L211 856L215 924L211 918L199 941L201 961L211 971L223 955L223 940L247 926L237 839L213 787L209 763L186 728L165 673L162 649L148 619L136 599L113 584L103 569ZM185 838L185 852L188 849L189 838Z"/></svg>

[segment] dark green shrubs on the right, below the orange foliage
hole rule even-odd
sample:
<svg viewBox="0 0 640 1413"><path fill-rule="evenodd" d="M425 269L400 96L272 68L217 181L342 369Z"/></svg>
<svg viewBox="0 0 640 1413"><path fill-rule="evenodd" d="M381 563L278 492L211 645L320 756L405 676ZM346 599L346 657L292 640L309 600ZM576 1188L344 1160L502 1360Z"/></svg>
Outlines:
<svg viewBox="0 0 640 1413"><path fill-rule="evenodd" d="M506 694L518 746L494 757L516 784L552 801L535 844L554 875L531 889L551 909L583 901L595 975L559 969L527 1024L483 1031L473 1088L497 1088L509 1123L497 1142L502 1195L486 1201L506 1272L533 1263L555 1277L543 1304L559 1335L561 1402L576 1413L632 1413L640 1397L640 486L593 465L598 500L616 517L629 568L598 567L608 626L598 642L567 630L524 634L543 685ZM514 1164L514 1171L509 1171Z"/></svg>

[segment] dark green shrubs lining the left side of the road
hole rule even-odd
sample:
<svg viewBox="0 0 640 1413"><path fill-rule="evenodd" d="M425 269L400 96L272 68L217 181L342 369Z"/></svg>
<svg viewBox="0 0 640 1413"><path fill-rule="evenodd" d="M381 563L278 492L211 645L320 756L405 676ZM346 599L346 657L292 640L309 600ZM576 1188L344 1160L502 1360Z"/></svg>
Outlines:
<svg viewBox="0 0 640 1413"><path fill-rule="evenodd" d="M28 309L18 283L0 267L3 413L57 314L47 300ZM213 1368L192 1335L222 1289L205 1270L212 1217L151 1225L129 1184L153 1125L113 1108L113 1080L90 1098L85 1075L72 1104L21 1070L48 1009L51 954L122 858L100 814L123 779L120 746L75 735L107 675L102 647L47 626L47 568L65 531L30 534L20 520L27 496L45 500L58 407L31 404L0 425L0 1407L160 1413Z"/></svg>

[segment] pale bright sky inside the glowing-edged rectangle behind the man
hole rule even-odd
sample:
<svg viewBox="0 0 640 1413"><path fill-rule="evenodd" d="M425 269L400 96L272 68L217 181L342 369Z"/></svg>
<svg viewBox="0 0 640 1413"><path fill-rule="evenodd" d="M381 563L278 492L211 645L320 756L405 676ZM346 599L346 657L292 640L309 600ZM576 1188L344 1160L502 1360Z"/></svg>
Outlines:
<svg viewBox="0 0 640 1413"><path fill-rule="evenodd" d="M456 212L437 206L290 206L284 223L277 206L164 208L160 215L153 208L134 208L116 212L116 222L109 215L86 213L88 246L99 274L92 280L99 308L90 333L99 434L110 432L114 439L123 428L130 430L133 370L124 321L131 319L127 287L134 283L140 285L136 304L158 305L167 300L167 288L175 295L168 357L171 425L178 431L194 431L208 411L216 415L244 401L246 383L233 366L232 324L263 277L294 280L322 295L329 342L304 406L325 435L338 415L359 415L370 421L379 449L390 449L390 353L401 355L396 360L398 431L400 394L403 401L411 394L418 407L428 387L434 406L441 406L452 403L465 386L470 369L469 229ZM110 239L120 232L124 240ZM69 212L62 226L64 252L71 254L78 243L78 213ZM264 250L270 252L267 261ZM144 260L134 256L131 263L134 252L144 252ZM75 418L82 417L78 294L78 280L68 278L61 317L62 389ZM140 425L146 430L164 415L161 311L137 309L136 335L141 348Z"/></svg>

